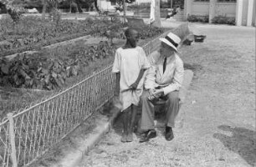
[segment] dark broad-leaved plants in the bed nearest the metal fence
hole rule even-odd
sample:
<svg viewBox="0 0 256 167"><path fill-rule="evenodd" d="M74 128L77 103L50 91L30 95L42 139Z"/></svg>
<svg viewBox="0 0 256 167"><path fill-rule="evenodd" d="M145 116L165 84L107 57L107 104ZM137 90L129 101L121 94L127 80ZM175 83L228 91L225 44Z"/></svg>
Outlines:
<svg viewBox="0 0 256 167"><path fill-rule="evenodd" d="M115 47L107 42L56 48L28 55L20 53L13 60L1 59L0 86L26 89L59 89L68 78L80 75L91 62L110 58Z"/></svg>

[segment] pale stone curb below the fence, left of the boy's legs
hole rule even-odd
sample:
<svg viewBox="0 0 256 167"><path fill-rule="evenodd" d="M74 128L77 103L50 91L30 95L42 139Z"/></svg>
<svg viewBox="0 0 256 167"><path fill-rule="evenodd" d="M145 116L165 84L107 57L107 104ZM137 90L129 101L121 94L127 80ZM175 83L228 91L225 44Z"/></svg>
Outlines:
<svg viewBox="0 0 256 167"><path fill-rule="evenodd" d="M51 165L52 167L79 167L79 162L84 155L88 154L95 144L98 144L100 139L104 137L106 133L110 131L115 119L120 114L120 109L116 107L111 109L111 117L107 121L103 121L97 125L94 132L92 132L87 139L84 140L83 144L78 149L70 151L69 154L64 156L63 159L57 164Z"/></svg>

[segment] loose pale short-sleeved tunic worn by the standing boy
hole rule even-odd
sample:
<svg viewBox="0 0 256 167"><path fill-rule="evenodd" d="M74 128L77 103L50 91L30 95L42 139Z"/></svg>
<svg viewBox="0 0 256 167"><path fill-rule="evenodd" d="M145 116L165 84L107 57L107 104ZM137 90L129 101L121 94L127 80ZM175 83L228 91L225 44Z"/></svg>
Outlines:
<svg viewBox="0 0 256 167"><path fill-rule="evenodd" d="M130 89L131 84L136 82L141 69L147 69L150 67L151 64L146 58L146 53L143 48L118 48L116 50L112 72L120 73L121 111L127 109L131 104L139 104L143 92L143 83L146 73L144 73L141 81L138 83L136 90Z"/></svg>

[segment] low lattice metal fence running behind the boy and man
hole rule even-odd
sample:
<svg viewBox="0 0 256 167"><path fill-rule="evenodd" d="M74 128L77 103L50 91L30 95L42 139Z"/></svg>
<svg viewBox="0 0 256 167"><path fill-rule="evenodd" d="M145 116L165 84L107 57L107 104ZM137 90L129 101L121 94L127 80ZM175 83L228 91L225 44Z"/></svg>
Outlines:
<svg viewBox="0 0 256 167"><path fill-rule="evenodd" d="M159 48L158 38L143 46L146 54ZM30 164L100 109L113 97L115 76L111 69L112 65L18 114L8 114L0 123L0 165Z"/></svg>

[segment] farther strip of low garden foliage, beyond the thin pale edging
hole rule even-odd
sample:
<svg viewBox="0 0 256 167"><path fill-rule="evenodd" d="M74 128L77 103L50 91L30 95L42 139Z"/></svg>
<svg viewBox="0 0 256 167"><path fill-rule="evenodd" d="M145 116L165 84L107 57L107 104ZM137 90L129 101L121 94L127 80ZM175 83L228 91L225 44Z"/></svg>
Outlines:
<svg viewBox="0 0 256 167"><path fill-rule="evenodd" d="M120 22L110 22L105 18L87 18L80 21L59 20L59 23L55 23L48 19L42 21L38 17L23 17L13 28L13 21L5 18L0 20L0 56L39 49L49 44L89 34L104 36L105 32L111 29L117 33L122 26Z"/></svg>

